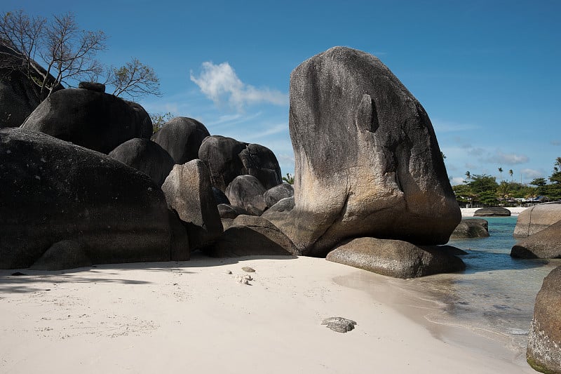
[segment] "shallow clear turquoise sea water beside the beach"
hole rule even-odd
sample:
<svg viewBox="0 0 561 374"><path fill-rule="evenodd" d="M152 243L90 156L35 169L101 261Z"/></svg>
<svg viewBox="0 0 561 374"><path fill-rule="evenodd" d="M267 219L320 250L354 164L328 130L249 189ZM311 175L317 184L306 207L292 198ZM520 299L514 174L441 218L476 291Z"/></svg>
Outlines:
<svg viewBox="0 0 561 374"><path fill-rule="evenodd" d="M400 286L430 293L442 303L440 311L427 319L495 335L511 349L525 352L536 295L543 278L561 260L511 258L517 218L485 219L489 237L449 242L468 253L460 256L466 263L464 272L427 276Z"/></svg>

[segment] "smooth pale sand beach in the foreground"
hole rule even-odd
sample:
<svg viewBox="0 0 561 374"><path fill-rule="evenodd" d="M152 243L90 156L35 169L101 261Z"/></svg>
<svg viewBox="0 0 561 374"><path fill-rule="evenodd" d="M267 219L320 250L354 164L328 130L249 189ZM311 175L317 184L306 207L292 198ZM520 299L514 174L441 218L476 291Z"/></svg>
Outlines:
<svg viewBox="0 0 561 374"><path fill-rule="evenodd" d="M427 321L422 295L324 259L20 271L0 270L0 373L534 373L500 340Z"/></svg>

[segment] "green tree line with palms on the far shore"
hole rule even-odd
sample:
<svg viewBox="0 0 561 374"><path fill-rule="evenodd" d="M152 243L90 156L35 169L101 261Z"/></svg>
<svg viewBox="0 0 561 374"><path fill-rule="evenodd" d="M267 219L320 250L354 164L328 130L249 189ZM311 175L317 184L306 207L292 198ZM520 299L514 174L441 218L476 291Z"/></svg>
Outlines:
<svg viewBox="0 0 561 374"><path fill-rule="evenodd" d="M472 175L466 171L464 184L452 186L456 199L460 206L499 206L513 205L513 199L543 199L548 201L561 200L561 157L555 159L553 173L550 175L549 182L546 178L534 178L529 185L513 181L513 171L508 174L511 181L502 180L503 169L499 168L501 181L496 182L496 178L487 174Z"/></svg>

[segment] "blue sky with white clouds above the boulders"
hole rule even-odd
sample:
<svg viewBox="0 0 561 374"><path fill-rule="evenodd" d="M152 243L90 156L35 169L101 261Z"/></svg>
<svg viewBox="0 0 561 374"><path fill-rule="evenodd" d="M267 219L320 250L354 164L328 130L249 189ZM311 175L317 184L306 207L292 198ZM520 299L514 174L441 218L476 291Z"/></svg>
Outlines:
<svg viewBox="0 0 561 374"><path fill-rule="evenodd" d="M561 1L26 1L0 11L72 11L107 33L109 65L131 57L161 79L148 112L190 116L257 142L293 173L290 72L332 46L377 55L425 107L452 184L471 174L529 182L561 156Z"/></svg>

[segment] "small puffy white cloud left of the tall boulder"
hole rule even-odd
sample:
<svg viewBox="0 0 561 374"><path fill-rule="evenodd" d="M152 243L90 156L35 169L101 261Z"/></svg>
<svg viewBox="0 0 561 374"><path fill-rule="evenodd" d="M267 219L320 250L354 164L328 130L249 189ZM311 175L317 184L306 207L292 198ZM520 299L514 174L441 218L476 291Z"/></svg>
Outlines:
<svg viewBox="0 0 561 374"><path fill-rule="evenodd" d="M197 77L191 72L193 81L207 98L222 105L224 101L238 111L243 111L245 105L268 102L274 105L287 105L288 95L270 88L255 88L244 84L238 78L228 62L215 65L210 61L203 62L201 74Z"/></svg>

